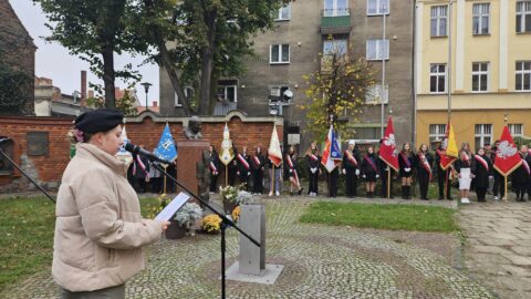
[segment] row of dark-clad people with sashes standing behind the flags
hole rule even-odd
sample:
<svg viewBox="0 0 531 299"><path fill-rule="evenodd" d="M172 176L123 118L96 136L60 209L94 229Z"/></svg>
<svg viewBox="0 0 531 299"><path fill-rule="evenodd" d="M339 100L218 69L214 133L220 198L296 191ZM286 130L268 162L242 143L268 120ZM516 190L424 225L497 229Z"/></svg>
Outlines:
<svg viewBox="0 0 531 299"><path fill-rule="evenodd" d="M437 143L437 142L435 142ZM409 143L404 143L398 155L398 168L395 171L387 163L378 158L378 153L373 146L367 146L362 154L354 141L348 142L348 147L342 153L341 164L332 172L324 171L321 167L321 153L316 143L311 143L304 154L304 158L299 158L295 146L290 146L283 154L282 165L273 167L272 162L267 158L267 151L262 152L257 146L253 153L248 147L242 147L241 152L233 148L235 157L227 166L228 184L244 183L244 188L253 194L263 194L269 189L269 196L280 195L280 186L283 179L290 182L290 194L301 194L303 187L300 182L300 173L308 175L308 195L316 196L319 194L319 178L325 173L326 185L330 197L337 196L337 183L340 175L343 175L345 182L345 196L356 197L357 186L365 185L365 195L369 198L375 196L376 183L381 182L381 196L393 198L393 185L398 179L402 187L402 198L412 198L412 186L418 183L418 197L428 200L429 183L437 181L438 199L451 200L450 188L458 182L459 196L461 202L469 202L470 189L477 194L478 202L485 202L488 192L491 192L494 199L504 198L504 177L493 168L498 142L492 147L486 145L472 153L468 143L462 143L458 157L454 163L444 168L440 164L444 152L439 146L435 152L429 151L427 144L421 144L417 151L414 151ZM218 153L214 146L210 146L210 192L217 192L218 178L220 176L221 165ZM517 199L523 200L525 193L531 194L531 153L525 145L522 145L519 152L522 158L522 165L518 167L510 179L512 188L517 193ZM304 163L299 167L299 163ZM274 173L273 173L274 169ZM324 172L323 172L324 171ZM269 172L269 185L264 187L264 174ZM454 181L456 178L456 181ZM493 183L493 184L492 184Z"/></svg>

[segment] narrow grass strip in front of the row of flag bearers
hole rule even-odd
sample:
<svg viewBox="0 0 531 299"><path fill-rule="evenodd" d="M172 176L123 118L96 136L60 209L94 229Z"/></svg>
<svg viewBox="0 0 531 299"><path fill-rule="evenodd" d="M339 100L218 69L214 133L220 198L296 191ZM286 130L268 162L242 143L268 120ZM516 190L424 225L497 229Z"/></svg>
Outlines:
<svg viewBox="0 0 531 299"><path fill-rule="evenodd" d="M418 231L457 231L455 209L420 205L371 205L321 202L311 204L302 223Z"/></svg>

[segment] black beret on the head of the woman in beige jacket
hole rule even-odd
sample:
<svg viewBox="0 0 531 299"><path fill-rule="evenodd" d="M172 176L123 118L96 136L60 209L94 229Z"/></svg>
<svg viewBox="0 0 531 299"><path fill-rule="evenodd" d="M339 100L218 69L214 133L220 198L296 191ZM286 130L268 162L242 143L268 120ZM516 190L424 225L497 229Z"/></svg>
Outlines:
<svg viewBox="0 0 531 299"><path fill-rule="evenodd" d="M115 109L85 112L74 121L74 127L85 133L107 132L124 123L124 114Z"/></svg>

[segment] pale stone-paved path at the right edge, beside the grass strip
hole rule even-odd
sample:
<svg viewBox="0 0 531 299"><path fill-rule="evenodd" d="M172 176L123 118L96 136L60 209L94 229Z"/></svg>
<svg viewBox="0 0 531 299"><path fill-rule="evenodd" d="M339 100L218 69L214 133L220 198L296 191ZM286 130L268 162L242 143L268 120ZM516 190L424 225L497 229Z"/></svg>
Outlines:
<svg viewBox="0 0 531 299"><path fill-rule="evenodd" d="M470 275L501 298L531 298L530 203L472 203L460 208L459 223Z"/></svg>

